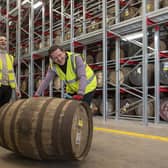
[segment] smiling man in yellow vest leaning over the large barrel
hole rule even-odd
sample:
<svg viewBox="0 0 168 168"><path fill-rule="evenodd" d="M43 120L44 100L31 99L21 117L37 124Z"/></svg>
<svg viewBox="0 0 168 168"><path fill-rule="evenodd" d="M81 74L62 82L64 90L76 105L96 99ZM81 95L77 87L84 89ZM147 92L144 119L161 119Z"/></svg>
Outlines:
<svg viewBox="0 0 168 168"><path fill-rule="evenodd" d="M48 72L34 96L40 96L55 75L58 75L66 84L67 95L90 105L97 80L94 72L82 56L77 53L66 52L62 47L54 45L49 49L49 57L51 62Z"/></svg>

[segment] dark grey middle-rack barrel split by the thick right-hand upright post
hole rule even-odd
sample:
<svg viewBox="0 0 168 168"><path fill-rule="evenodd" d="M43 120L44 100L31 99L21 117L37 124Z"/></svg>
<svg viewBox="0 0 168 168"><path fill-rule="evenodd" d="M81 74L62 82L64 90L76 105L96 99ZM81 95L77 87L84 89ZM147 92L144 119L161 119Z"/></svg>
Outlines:
<svg viewBox="0 0 168 168"><path fill-rule="evenodd" d="M153 64L148 64L148 84L153 82ZM134 86L142 86L142 67L138 67L132 72L130 72L128 76L129 82Z"/></svg>

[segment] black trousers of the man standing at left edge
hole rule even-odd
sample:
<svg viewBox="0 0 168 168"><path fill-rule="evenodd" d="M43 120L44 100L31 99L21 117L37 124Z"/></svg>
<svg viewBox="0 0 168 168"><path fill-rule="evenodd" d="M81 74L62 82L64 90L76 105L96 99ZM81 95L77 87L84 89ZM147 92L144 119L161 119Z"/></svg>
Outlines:
<svg viewBox="0 0 168 168"><path fill-rule="evenodd" d="M12 95L12 88L10 86L1 85L0 87L0 107L8 103Z"/></svg>

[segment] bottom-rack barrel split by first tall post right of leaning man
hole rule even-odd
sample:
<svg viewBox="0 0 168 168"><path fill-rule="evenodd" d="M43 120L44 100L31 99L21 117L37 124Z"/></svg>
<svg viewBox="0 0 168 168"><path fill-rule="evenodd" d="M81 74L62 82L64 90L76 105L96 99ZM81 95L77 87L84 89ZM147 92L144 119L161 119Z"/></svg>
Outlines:
<svg viewBox="0 0 168 168"><path fill-rule="evenodd" d="M107 111L107 115L110 116L112 114L114 114L114 110L115 110L115 101L113 98L109 98L108 99L108 111ZM103 101L100 103L100 114L103 115Z"/></svg>

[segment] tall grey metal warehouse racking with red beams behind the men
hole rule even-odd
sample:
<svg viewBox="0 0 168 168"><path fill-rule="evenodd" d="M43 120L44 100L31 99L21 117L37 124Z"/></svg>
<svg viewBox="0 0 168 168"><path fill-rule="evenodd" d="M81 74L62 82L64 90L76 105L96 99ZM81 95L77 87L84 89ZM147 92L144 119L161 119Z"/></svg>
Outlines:
<svg viewBox="0 0 168 168"><path fill-rule="evenodd" d="M160 8L160 1L154 0L154 9L148 8L150 0L143 1L118 1L118 0L51 0L40 1L41 6L34 8L37 0L12 0L2 1L1 23L9 43L9 51L17 57L17 81L21 86L22 67L28 69L27 95L34 94L35 69L40 70L41 77L45 74L45 56L47 50L55 41L60 42L66 49L79 51L87 55L90 45L99 45L102 50L102 62L94 67L103 70L103 118L109 118L108 99L110 89L115 91L115 119L126 116L120 113L120 99L122 92L127 92L142 100L143 114L140 119L148 124L148 99L152 98L155 106L154 122L160 121L160 56L167 56L159 51L159 28L167 24L168 7ZM142 6L142 14L134 18L129 16L124 20L122 14L128 12L130 6ZM147 8L146 8L147 7ZM5 8L5 10L2 10ZM151 11L149 10L151 9ZM147 11L149 10L149 12ZM138 15L138 14L136 14ZM122 21L120 21L122 20ZM115 24L114 24L115 23ZM154 49L148 46L148 33L154 36ZM138 40L130 40L127 35L142 33L143 37ZM125 42L125 40L127 42ZM115 47L115 61L108 60L108 45L113 42ZM121 43L129 43L142 49L128 59L121 60ZM37 45L36 45L37 44ZM149 93L148 86L148 57L152 51L155 69L154 94ZM93 52L95 54L95 52ZM141 55L141 56L140 56ZM87 58L86 58L87 59ZM130 63L130 60L141 62L143 69L142 87L132 87L121 84L120 70ZM122 64L121 64L122 62ZM116 72L116 82L109 87L108 67L113 66ZM136 67L136 66L134 66ZM166 91L166 87L162 88ZM53 95L52 83L50 96ZM63 95L63 89L62 89Z"/></svg>

